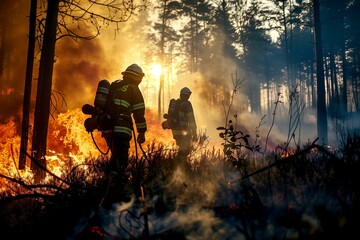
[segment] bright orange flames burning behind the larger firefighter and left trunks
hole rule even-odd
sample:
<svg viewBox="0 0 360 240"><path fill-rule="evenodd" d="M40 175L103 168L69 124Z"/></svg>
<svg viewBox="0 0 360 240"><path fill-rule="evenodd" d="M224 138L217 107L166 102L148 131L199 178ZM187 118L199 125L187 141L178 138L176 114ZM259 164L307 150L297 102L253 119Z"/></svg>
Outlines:
<svg viewBox="0 0 360 240"><path fill-rule="evenodd" d="M161 121L157 119L157 114L153 110L146 111L146 120L148 131L146 132L146 142L144 150L152 143L173 145L174 140L170 130L163 130ZM51 119L48 128L47 140L47 168L52 173L59 175L64 169L63 166L72 161L75 165L84 163L86 159L96 159L102 153L97 149L106 152L107 145L105 140L101 137L101 133L94 131L92 139L91 133L86 132L83 125L89 115L82 113L81 109L76 108L65 113L59 114L55 119ZM20 149L20 134L17 131L15 118L7 120L4 124L0 124L0 134L2 136L0 142L0 174L9 177L24 178L25 176L32 176L30 167L30 160L27 159L26 169L18 170L19 149ZM31 136L29 136L29 144L31 146ZM136 151L135 138L132 139L130 145L130 155ZM29 147L31 148L31 147ZM29 151L28 151L29 152ZM110 153L107 155L110 157ZM5 190L6 182L0 178L0 192Z"/></svg>

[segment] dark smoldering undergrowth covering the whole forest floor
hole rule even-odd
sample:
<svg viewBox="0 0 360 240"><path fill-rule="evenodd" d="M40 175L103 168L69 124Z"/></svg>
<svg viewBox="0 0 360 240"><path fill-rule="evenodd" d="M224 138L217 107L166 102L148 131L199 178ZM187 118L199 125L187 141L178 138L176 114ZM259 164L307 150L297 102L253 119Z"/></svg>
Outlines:
<svg viewBox="0 0 360 240"><path fill-rule="evenodd" d="M0 199L2 234L11 239L350 239L356 234L359 135L334 149L314 141L297 149L278 147L266 156L245 147L242 137L224 140L220 150L194 145L184 161L161 144L138 149L128 167L131 200L108 208L100 206L107 158L77 166L69 161L61 176L48 172L42 184L8 178Z"/></svg>

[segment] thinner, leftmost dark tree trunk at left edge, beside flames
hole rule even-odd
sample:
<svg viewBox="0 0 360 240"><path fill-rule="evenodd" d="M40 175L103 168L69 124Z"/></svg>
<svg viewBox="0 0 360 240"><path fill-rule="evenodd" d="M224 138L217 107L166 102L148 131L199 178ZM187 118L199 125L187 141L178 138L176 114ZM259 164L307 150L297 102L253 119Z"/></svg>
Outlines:
<svg viewBox="0 0 360 240"><path fill-rule="evenodd" d="M32 84L33 66L34 66L34 49L35 49L36 7L37 7L37 0L31 0L30 19L29 19L29 44L28 44L25 89L24 89L24 100L23 100L19 169L25 168L26 165L25 152L27 151L27 147L28 147L30 98L31 98L31 84Z"/></svg>

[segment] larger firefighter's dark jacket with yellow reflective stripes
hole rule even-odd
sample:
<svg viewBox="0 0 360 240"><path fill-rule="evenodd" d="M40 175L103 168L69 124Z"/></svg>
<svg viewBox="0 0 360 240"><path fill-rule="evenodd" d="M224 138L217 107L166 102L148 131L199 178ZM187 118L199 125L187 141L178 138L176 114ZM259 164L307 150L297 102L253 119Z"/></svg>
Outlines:
<svg viewBox="0 0 360 240"><path fill-rule="evenodd" d="M145 120L145 103L137 84L131 79L117 80L111 84L107 110L113 120L113 134L115 136L132 137L133 123L135 121L138 133L147 130Z"/></svg>

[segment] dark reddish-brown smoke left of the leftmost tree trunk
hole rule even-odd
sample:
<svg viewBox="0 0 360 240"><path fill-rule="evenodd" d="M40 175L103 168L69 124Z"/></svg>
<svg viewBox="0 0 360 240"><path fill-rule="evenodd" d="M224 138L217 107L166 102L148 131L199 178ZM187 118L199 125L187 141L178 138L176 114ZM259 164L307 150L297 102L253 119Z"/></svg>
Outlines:
<svg viewBox="0 0 360 240"><path fill-rule="evenodd" d="M17 115L23 101L28 5L25 0L0 3L0 122Z"/></svg>

